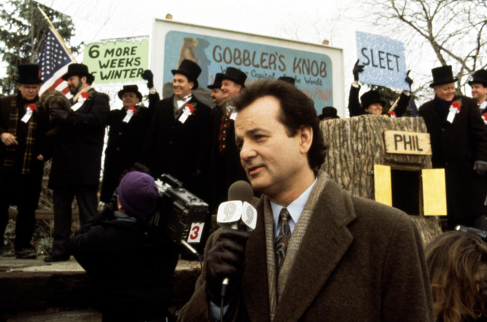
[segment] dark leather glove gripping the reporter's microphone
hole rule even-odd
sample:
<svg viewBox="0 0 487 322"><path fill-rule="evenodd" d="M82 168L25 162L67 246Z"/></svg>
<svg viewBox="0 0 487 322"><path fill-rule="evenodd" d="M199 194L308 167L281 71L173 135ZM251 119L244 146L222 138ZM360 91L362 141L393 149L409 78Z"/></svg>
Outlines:
<svg viewBox="0 0 487 322"><path fill-rule="evenodd" d="M222 281L229 278L225 303L233 300L240 288L245 267L245 246L249 233L223 229L206 258L206 294L208 299L220 305Z"/></svg>

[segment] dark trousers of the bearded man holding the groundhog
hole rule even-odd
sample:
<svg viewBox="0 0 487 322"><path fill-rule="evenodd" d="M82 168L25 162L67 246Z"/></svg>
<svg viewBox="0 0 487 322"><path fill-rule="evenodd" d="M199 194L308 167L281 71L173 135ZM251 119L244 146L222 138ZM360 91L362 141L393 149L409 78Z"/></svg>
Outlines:
<svg viewBox="0 0 487 322"><path fill-rule="evenodd" d="M68 244L71 236L71 204L76 196L80 210L81 226L98 214L97 186L59 186L54 194L54 241L51 255L65 257L69 255Z"/></svg>

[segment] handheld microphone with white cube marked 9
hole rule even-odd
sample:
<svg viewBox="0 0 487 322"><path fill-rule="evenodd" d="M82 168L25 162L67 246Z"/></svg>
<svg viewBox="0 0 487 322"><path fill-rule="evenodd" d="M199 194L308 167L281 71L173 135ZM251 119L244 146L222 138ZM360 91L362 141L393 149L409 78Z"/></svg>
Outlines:
<svg viewBox="0 0 487 322"><path fill-rule="evenodd" d="M217 223L220 227L253 231L257 224L257 209L250 204L254 191L247 181L239 180L228 188L228 200L218 206ZM222 296L229 279L222 282Z"/></svg>

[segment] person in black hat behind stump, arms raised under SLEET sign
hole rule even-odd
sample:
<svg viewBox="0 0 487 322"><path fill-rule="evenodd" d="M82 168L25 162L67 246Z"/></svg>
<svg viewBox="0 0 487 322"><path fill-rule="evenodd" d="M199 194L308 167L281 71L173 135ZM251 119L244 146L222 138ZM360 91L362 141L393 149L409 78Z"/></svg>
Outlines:
<svg viewBox="0 0 487 322"><path fill-rule="evenodd" d="M360 92L360 84L359 84L359 73L364 71L364 66L359 65L359 60L355 62L354 65L354 82L352 86L350 86L350 94L349 94L349 113L350 116L358 116L364 114L373 114L373 115L381 115L386 114L387 111L384 111L386 106L386 101L380 98L379 92L377 90L370 90L365 92L361 97L360 100L362 104L359 102L359 92ZM409 76L406 76L404 79L406 83L409 84L409 88L412 84L412 79ZM399 97L399 101L394 109L396 117L401 117L406 108L409 104L410 98L409 91L402 91L401 96Z"/></svg>

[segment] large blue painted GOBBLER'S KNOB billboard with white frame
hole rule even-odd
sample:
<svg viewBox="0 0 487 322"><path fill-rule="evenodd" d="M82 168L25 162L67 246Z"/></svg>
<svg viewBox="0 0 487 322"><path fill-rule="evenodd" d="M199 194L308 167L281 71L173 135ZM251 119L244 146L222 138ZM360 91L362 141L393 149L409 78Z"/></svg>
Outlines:
<svg viewBox="0 0 487 322"><path fill-rule="evenodd" d="M335 106L344 115L341 49L157 19L152 35L151 69L164 97L172 95L171 69L191 59L202 69L198 97L209 97L206 86L231 66L247 74L247 85L292 77L315 102L318 114L324 106Z"/></svg>

